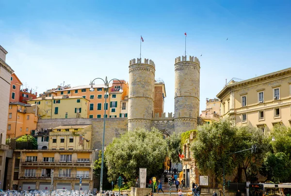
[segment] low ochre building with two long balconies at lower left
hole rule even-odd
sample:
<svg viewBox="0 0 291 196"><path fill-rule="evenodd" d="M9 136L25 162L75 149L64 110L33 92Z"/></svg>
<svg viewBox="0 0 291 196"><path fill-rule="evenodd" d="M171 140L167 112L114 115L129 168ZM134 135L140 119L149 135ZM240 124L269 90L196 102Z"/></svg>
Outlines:
<svg viewBox="0 0 291 196"><path fill-rule="evenodd" d="M56 189L93 191L94 150L15 150L6 190ZM52 172L53 171L53 172Z"/></svg>

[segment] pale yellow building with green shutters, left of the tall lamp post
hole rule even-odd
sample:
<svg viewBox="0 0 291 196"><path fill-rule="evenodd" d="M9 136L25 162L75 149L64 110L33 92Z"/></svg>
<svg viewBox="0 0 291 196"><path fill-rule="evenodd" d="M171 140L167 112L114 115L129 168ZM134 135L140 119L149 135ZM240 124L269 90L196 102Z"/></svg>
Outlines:
<svg viewBox="0 0 291 196"><path fill-rule="evenodd" d="M27 101L37 104L41 119L87 118L89 100L79 96L40 97Z"/></svg>

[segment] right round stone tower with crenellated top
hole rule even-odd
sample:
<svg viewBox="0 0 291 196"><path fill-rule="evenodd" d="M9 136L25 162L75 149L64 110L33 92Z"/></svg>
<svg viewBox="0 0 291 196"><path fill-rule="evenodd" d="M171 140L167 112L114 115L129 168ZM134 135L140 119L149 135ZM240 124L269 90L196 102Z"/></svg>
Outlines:
<svg viewBox="0 0 291 196"><path fill-rule="evenodd" d="M200 62L187 56L175 60L175 116L176 132L196 129L199 115Z"/></svg>

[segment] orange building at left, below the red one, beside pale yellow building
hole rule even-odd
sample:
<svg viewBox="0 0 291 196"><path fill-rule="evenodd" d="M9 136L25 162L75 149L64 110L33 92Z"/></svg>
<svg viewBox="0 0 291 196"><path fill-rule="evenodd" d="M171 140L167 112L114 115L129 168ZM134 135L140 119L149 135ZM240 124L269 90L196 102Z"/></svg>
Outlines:
<svg viewBox="0 0 291 196"><path fill-rule="evenodd" d="M9 103L7 138L19 137L30 134L37 125L37 105L30 105L21 102Z"/></svg>

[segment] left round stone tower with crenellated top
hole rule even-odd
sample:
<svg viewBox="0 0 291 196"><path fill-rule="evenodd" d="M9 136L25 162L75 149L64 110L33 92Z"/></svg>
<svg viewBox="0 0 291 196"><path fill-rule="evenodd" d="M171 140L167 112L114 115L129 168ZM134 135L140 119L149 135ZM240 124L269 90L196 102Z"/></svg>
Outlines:
<svg viewBox="0 0 291 196"><path fill-rule="evenodd" d="M151 129L154 111L155 64L138 58L129 61L129 131Z"/></svg>

